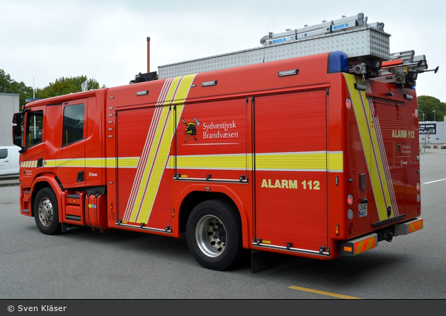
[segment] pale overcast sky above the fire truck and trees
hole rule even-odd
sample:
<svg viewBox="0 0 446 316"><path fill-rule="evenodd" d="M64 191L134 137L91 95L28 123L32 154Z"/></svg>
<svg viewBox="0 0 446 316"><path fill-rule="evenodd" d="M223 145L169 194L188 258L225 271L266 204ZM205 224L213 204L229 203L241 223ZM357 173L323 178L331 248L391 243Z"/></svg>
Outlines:
<svg viewBox="0 0 446 316"><path fill-rule="evenodd" d="M44 88L60 77L87 76L126 85L158 66L260 47L266 33L364 13L384 23L390 52L424 54L418 95L446 102L446 1L281 0L0 0L0 69Z"/></svg>

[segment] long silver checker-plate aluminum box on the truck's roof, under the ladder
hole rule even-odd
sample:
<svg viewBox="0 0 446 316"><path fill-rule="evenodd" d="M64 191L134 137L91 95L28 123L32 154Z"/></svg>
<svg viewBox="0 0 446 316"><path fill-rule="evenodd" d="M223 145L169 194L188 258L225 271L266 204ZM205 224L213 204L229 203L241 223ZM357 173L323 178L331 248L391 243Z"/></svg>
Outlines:
<svg viewBox="0 0 446 316"><path fill-rule="evenodd" d="M389 37L389 34L378 28L353 28L338 33L158 66L158 77L171 78L335 51L344 52L348 59L374 57L389 60Z"/></svg>

